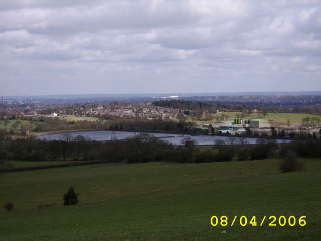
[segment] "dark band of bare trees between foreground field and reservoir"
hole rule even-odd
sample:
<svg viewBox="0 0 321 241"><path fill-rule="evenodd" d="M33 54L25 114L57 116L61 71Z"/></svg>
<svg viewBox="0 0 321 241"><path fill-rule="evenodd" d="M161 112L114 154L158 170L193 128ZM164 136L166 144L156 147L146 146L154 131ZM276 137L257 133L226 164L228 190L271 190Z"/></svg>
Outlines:
<svg viewBox="0 0 321 241"><path fill-rule="evenodd" d="M163 160L206 163L281 158L290 152L298 157L321 158L319 139L279 145L274 139L258 139L256 145L249 145L244 137L230 136L227 142L215 140L215 146L207 150L198 148L192 138L183 139L182 144L180 147L174 147L146 133L136 138L109 142L86 140L82 136L72 139L68 134L64 140L59 141L0 135L0 158L24 161L103 160L141 163Z"/></svg>

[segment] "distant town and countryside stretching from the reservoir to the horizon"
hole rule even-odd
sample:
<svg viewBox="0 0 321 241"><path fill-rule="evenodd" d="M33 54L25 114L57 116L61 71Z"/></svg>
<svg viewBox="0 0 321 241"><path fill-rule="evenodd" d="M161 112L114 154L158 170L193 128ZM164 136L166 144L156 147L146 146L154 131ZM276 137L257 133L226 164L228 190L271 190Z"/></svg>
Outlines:
<svg viewBox="0 0 321 241"><path fill-rule="evenodd" d="M239 102L242 102L239 104ZM28 133L59 131L49 128L51 118L64 121L67 129L110 129L122 122L162 120L184 123L185 132L204 134L280 135L318 133L320 129L321 95L268 94L217 96L2 96L0 121L29 121L22 131ZM95 124L86 126L81 121ZM73 123L78 122L78 127ZM29 123L29 124L30 124ZM97 124L99 123L99 125ZM12 125L10 125L12 126ZM116 127L117 127L116 126ZM16 128L15 128L16 127ZM136 127L132 124L131 129ZM281 131L286 134L281 134ZM172 128L171 131L177 131Z"/></svg>

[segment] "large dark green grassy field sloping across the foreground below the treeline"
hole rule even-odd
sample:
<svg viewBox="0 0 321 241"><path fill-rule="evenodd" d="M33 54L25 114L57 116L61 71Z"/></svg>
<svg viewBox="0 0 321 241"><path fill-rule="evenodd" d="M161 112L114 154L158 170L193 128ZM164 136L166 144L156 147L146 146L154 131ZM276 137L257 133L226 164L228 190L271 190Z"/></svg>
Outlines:
<svg viewBox="0 0 321 241"><path fill-rule="evenodd" d="M305 171L285 174L278 162L103 164L1 174L0 204L10 200L17 210L0 212L0 240L318 240L321 161L304 159ZM78 205L36 209L61 204L70 185L80 192ZM214 214L306 215L307 225L212 227Z"/></svg>

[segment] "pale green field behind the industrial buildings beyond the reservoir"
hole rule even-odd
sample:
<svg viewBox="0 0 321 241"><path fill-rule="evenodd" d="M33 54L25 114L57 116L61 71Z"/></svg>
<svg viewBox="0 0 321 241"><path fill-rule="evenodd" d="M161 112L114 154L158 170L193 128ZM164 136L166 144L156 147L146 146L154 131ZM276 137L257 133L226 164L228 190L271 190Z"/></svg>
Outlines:
<svg viewBox="0 0 321 241"><path fill-rule="evenodd" d="M213 116L221 116L221 114L226 114L229 117L228 120L233 120L237 114L241 115L241 112L222 112L213 114ZM317 117L321 119L321 115L316 114L302 114L302 113L267 113L264 117L263 115L258 116L257 113L251 113L250 116L245 116L243 119L268 119L271 126L281 126L287 127L287 119L290 119L290 127L297 127L302 124L302 118L304 117ZM216 119L213 119L212 122L216 122ZM210 122L198 122L200 124L209 124Z"/></svg>

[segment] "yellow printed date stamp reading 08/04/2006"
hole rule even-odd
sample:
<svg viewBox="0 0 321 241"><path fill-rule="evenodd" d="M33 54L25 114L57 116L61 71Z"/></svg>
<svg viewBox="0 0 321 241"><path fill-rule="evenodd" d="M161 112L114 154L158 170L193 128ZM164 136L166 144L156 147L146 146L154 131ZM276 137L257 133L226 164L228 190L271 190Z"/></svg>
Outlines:
<svg viewBox="0 0 321 241"><path fill-rule="evenodd" d="M241 225L242 227L245 226L263 226L263 225L268 225L268 226L305 226L306 225L306 216L295 216L295 215L290 215L290 216L274 216L274 215L264 215L263 217L258 218L257 216L245 216L245 215L240 215L237 216L235 215L234 217L229 218L226 215L222 216L216 216L213 215L210 219L211 225L213 227L217 226L233 226L233 225Z"/></svg>

